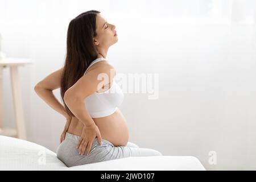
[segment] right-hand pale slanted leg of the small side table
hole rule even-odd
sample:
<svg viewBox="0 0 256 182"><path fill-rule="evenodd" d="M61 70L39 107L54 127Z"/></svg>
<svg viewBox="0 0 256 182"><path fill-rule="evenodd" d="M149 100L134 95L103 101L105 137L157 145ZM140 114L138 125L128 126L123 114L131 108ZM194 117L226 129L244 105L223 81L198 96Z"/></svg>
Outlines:
<svg viewBox="0 0 256 182"><path fill-rule="evenodd" d="M26 139L26 127L23 117L23 107L22 107L22 97L20 82L18 76L18 67L11 66L11 86L13 90L13 99L14 99L14 110L15 110L15 119L16 119L16 129L18 133L18 138Z"/></svg>

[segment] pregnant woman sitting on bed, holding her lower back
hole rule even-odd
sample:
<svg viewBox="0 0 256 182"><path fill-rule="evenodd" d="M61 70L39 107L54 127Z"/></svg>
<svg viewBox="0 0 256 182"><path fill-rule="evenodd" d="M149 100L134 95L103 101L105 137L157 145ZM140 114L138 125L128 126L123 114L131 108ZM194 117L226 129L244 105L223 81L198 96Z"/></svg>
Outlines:
<svg viewBox="0 0 256 182"><path fill-rule="evenodd" d="M118 109L124 96L106 59L117 41L115 26L100 11L80 14L68 26L64 67L35 86L35 92L67 119L56 153L68 167L162 155L129 142L126 119ZM64 106L53 95L57 88Z"/></svg>

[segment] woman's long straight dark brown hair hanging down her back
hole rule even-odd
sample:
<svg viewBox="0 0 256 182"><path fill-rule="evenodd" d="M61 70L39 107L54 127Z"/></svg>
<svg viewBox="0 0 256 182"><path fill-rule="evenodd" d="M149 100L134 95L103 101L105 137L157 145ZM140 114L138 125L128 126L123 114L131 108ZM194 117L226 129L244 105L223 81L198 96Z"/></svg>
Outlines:
<svg viewBox="0 0 256 182"><path fill-rule="evenodd" d="M100 11L90 10L72 19L68 25L67 32L67 53L61 77L60 94L67 114L71 117L75 115L68 109L64 102L64 94L84 72L97 59L98 51L93 44L96 33L96 16Z"/></svg>

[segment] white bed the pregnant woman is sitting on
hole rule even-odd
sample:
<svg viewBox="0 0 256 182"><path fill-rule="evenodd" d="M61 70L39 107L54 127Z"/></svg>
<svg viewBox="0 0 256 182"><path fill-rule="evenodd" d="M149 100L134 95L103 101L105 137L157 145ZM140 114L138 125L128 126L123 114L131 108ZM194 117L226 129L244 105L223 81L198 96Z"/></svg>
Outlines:
<svg viewBox="0 0 256 182"><path fill-rule="evenodd" d="M194 156L144 156L67 167L56 153L39 144L0 135L0 170L200 170Z"/></svg>

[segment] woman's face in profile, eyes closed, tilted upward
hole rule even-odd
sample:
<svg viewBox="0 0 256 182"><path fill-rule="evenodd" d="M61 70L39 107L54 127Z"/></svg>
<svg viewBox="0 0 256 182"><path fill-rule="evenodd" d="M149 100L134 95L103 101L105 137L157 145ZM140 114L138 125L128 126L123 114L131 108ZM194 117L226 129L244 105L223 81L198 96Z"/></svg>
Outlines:
<svg viewBox="0 0 256 182"><path fill-rule="evenodd" d="M97 36L94 37L96 46L108 48L118 41L114 24L110 24L100 13L96 16L96 32Z"/></svg>

